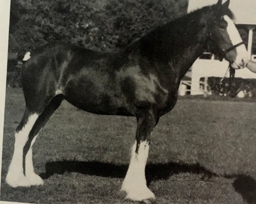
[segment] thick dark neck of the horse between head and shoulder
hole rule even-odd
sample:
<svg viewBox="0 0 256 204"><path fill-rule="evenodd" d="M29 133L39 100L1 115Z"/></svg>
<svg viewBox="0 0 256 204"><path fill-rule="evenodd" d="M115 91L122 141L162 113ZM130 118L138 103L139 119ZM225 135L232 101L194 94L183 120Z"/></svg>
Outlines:
<svg viewBox="0 0 256 204"><path fill-rule="evenodd" d="M198 11L167 23L126 47L124 52L131 53L139 48L146 59L168 63L170 72L183 77L204 51L207 33L200 24L203 14Z"/></svg>

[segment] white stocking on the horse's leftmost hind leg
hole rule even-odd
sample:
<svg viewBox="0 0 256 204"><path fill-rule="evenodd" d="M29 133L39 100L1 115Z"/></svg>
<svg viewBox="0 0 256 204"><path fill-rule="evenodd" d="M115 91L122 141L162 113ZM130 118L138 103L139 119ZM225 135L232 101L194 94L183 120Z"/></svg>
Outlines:
<svg viewBox="0 0 256 204"><path fill-rule="evenodd" d="M23 147L29 136L29 132L38 119L38 114L33 114L29 117L26 125L19 132L15 133L15 144L12 161L6 176L6 182L12 186L31 186L29 179L23 174ZM32 149L26 158L32 159ZM31 162L31 161L30 161Z"/></svg>

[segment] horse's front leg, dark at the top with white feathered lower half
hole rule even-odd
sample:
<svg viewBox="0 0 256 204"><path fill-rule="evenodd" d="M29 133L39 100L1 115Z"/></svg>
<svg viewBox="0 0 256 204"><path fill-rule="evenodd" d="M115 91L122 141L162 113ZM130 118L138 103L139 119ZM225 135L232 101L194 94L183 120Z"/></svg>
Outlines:
<svg viewBox="0 0 256 204"><path fill-rule="evenodd" d="M127 193L126 198L133 201L154 199L154 193L148 189L145 178L145 166L151 131L156 125L156 117L151 110L137 118L136 141L131 150L131 161L121 190Z"/></svg>

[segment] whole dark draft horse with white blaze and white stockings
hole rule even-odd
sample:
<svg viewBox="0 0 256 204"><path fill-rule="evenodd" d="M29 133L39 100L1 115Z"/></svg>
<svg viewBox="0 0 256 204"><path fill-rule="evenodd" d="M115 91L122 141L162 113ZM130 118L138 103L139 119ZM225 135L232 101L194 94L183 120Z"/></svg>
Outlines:
<svg viewBox="0 0 256 204"><path fill-rule="evenodd" d="M23 66L26 109L15 131L6 182L12 187L43 184L34 172L32 146L65 99L90 113L137 118L136 141L122 190L134 201L154 199L145 179L149 137L160 116L175 106L181 78L206 49L227 59L233 68L244 68L248 61L228 6L229 0L224 4L218 0L156 28L116 53L61 42L33 51Z"/></svg>

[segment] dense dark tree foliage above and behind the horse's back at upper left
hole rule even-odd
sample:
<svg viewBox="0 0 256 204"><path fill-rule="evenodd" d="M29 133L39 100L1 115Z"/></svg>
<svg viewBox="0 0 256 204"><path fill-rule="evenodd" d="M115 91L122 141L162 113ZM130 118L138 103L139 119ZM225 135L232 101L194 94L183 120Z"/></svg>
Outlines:
<svg viewBox="0 0 256 204"><path fill-rule="evenodd" d="M120 48L186 13L186 7L187 0L12 0L9 50L54 40Z"/></svg>

